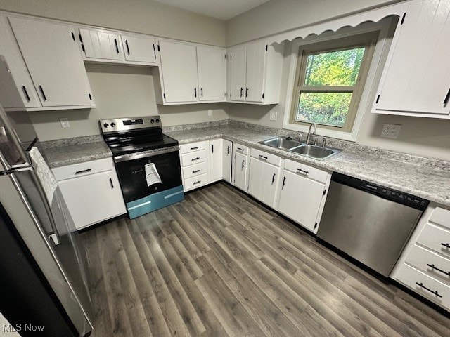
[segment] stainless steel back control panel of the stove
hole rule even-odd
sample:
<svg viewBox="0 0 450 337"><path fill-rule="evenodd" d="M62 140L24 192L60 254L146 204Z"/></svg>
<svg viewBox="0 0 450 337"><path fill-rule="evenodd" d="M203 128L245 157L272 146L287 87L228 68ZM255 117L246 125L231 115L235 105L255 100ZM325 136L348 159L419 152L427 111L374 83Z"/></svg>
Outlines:
<svg viewBox="0 0 450 337"><path fill-rule="evenodd" d="M103 133L162 127L159 116L101 119L99 123Z"/></svg>

